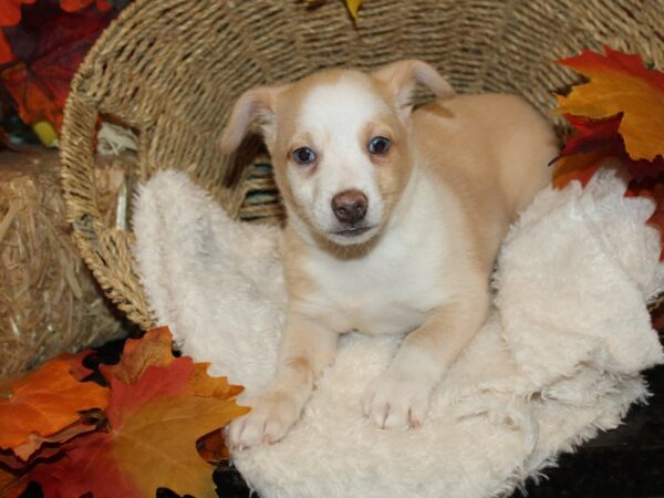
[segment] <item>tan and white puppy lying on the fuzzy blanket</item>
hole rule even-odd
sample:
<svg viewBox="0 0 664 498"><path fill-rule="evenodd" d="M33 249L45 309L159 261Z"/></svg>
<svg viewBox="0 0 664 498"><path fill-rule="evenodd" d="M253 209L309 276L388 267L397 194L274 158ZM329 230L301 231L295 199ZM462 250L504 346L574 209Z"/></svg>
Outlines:
<svg viewBox="0 0 664 498"><path fill-rule="evenodd" d="M438 100L412 112L416 83ZM407 333L363 411L378 427L417 427L487 317L509 224L550 180L551 127L512 95L455 96L417 60L250 90L222 148L255 121L288 211L289 307L273 386L231 424L230 444L282 438L349 331Z"/></svg>

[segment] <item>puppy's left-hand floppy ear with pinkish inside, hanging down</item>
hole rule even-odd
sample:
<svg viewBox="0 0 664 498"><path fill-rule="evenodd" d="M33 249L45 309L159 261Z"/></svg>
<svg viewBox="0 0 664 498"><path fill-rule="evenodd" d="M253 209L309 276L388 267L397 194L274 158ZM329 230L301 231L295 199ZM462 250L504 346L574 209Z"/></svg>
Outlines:
<svg viewBox="0 0 664 498"><path fill-rule="evenodd" d="M258 122L266 143L274 141L274 105L281 86L259 86L245 92L236 102L220 138L221 151L230 154L239 147L249 126Z"/></svg>

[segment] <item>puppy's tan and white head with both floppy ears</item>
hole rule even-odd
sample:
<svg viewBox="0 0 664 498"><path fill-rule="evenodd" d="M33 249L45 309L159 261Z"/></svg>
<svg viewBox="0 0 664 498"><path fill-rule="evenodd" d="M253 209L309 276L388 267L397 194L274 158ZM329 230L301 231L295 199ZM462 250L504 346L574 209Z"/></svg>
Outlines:
<svg viewBox="0 0 664 498"><path fill-rule="evenodd" d="M221 147L238 147L259 122L290 217L340 246L364 243L385 226L412 169L412 94L419 82L454 94L428 64L408 60L372 74L329 70L247 91Z"/></svg>

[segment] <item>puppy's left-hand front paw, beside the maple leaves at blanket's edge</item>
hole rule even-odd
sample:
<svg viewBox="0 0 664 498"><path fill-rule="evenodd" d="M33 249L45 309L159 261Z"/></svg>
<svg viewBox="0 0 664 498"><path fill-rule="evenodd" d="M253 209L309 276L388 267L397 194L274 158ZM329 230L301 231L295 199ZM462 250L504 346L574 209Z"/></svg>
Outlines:
<svg viewBox="0 0 664 498"><path fill-rule="evenodd" d="M269 393L242 403L251 412L232 421L227 429L227 442L231 450L241 452L260 444L272 444L286 436L298 421L301 406L292 396Z"/></svg>

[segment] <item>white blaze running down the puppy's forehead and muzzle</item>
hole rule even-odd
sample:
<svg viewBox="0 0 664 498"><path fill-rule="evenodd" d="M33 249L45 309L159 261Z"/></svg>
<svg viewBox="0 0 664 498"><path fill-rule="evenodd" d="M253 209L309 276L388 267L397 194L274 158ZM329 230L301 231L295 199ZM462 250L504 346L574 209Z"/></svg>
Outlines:
<svg viewBox="0 0 664 498"><path fill-rule="evenodd" d="M312 175L307 174L307 166L288 168L298 204L320 231L329 234L340 226L332 211L332 198L344 190L356 189L369 200L364 225L378 225L384 203L363 134L372 120L390 112L387 104L361 80L342 77L314 86L300 108L298 132L307 133L312 143L293 145L312 148L318 164Z"/></svg>

